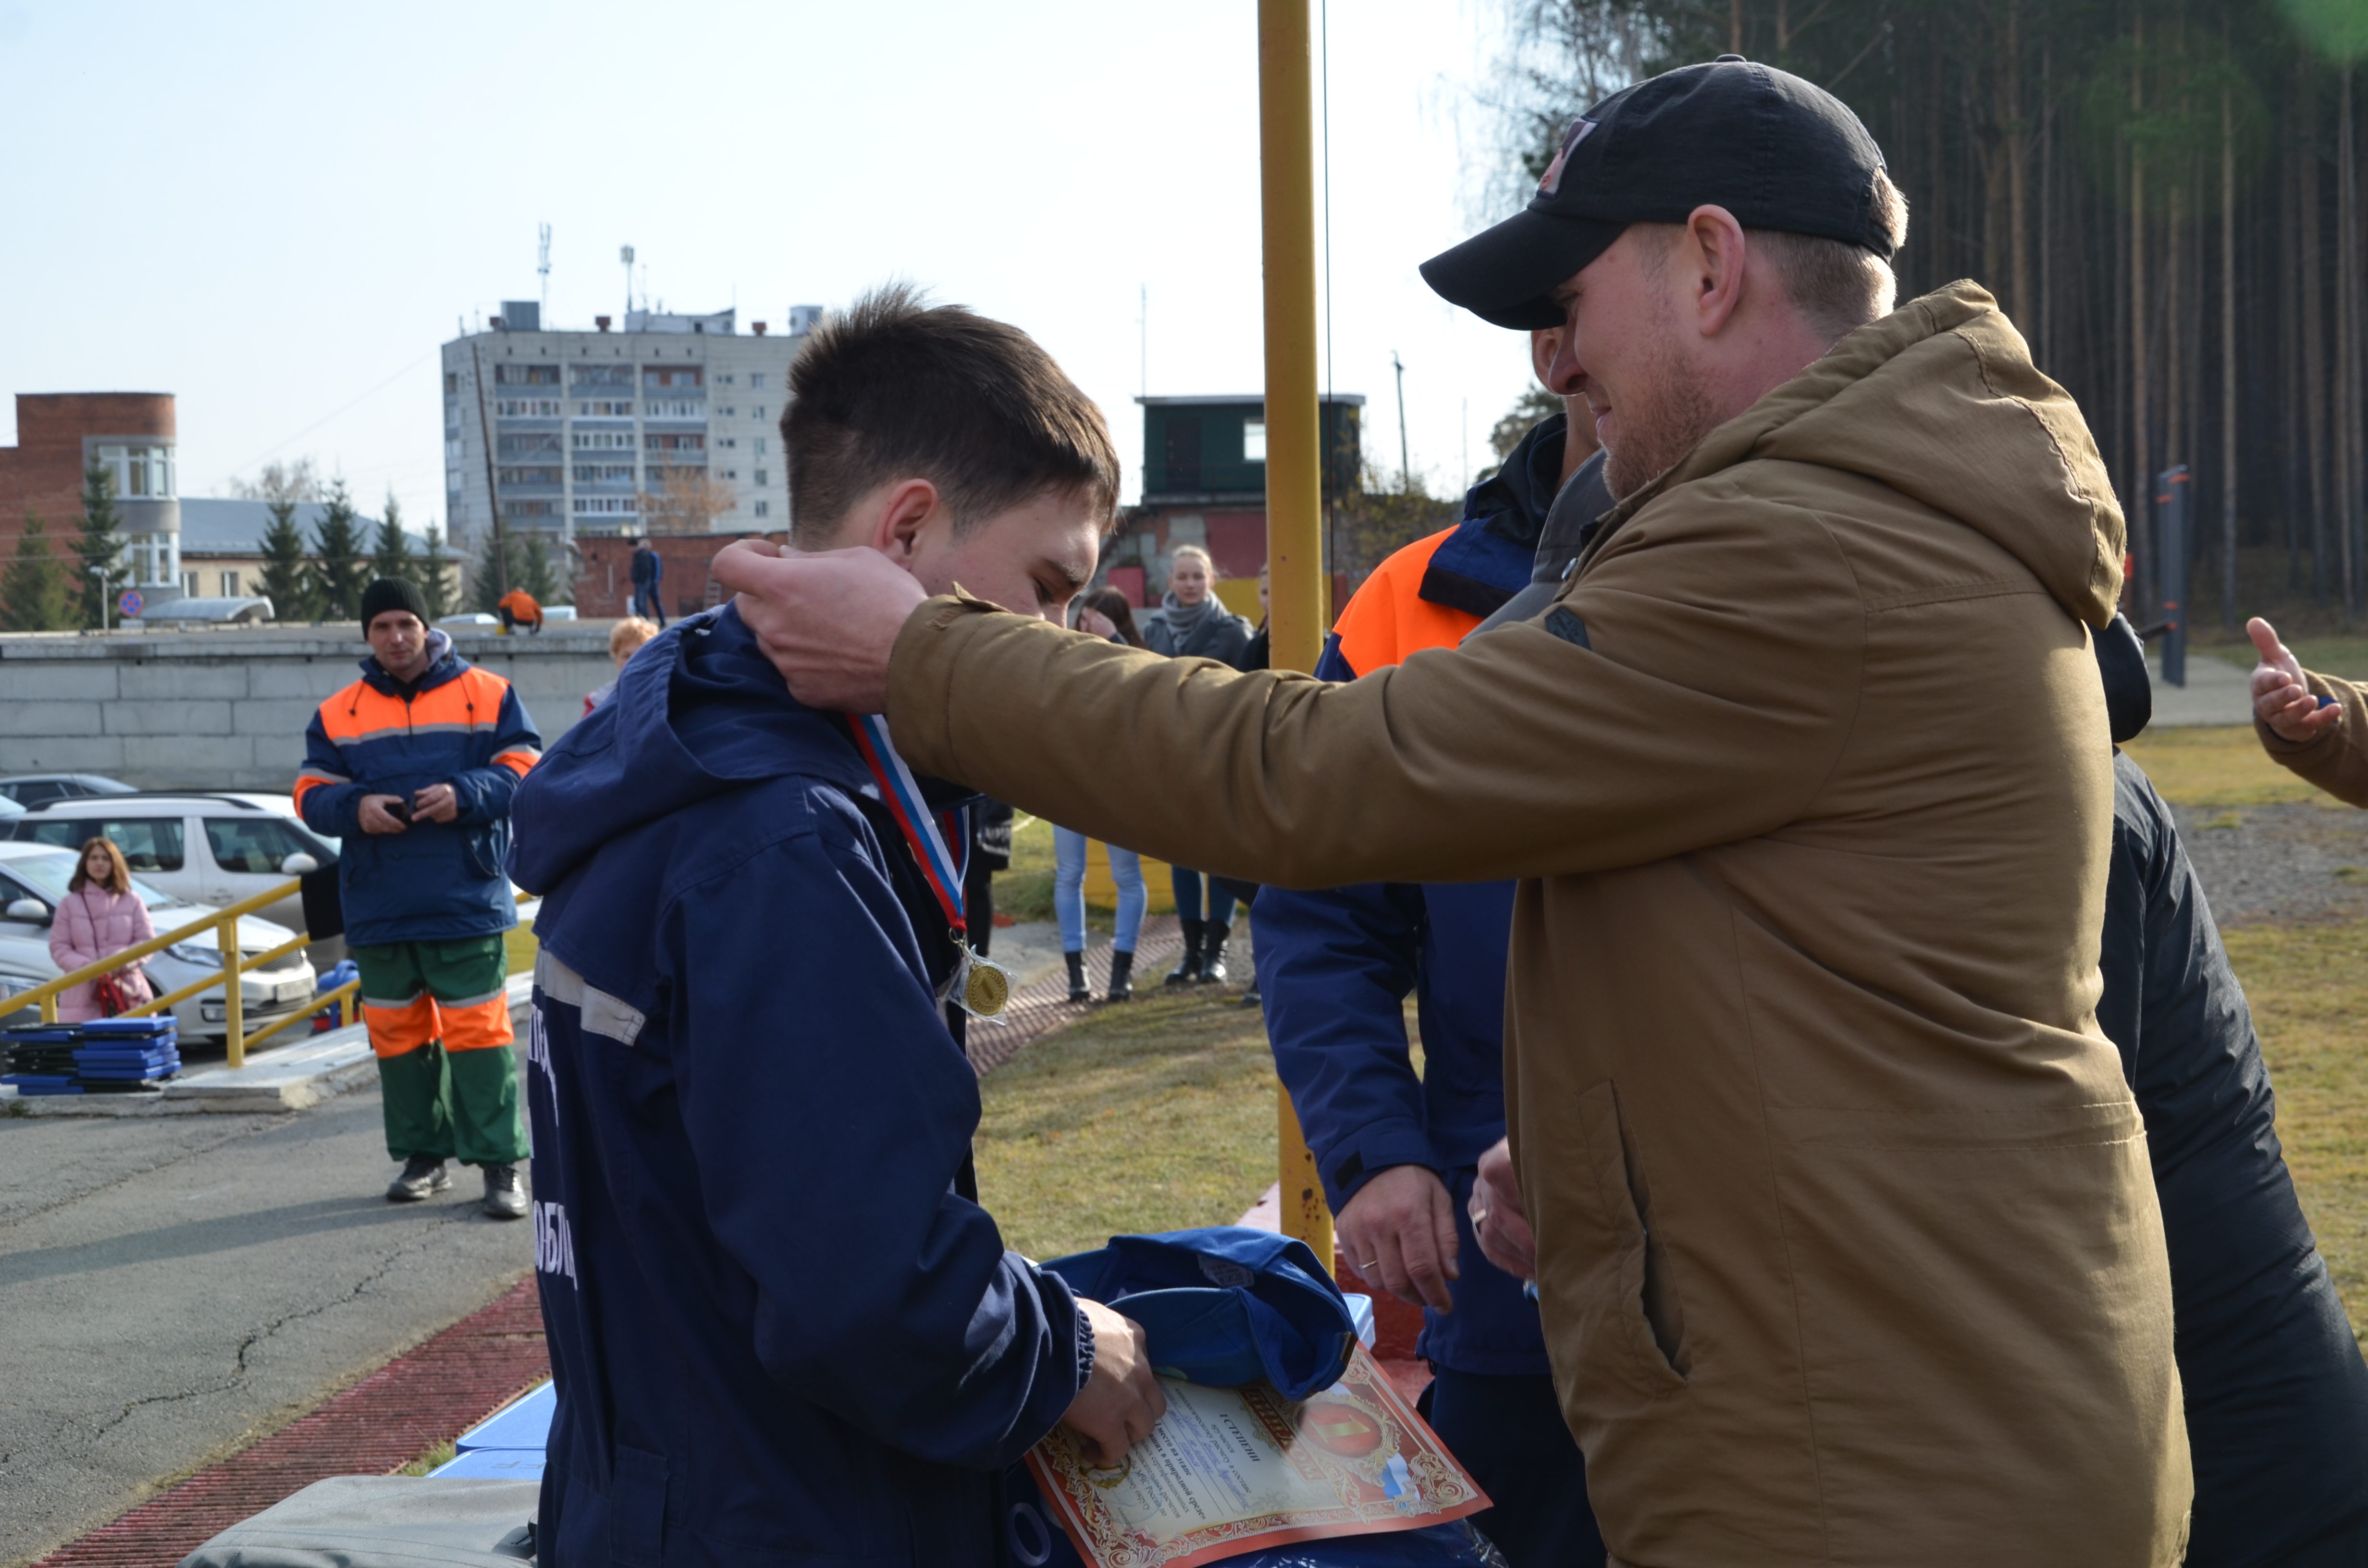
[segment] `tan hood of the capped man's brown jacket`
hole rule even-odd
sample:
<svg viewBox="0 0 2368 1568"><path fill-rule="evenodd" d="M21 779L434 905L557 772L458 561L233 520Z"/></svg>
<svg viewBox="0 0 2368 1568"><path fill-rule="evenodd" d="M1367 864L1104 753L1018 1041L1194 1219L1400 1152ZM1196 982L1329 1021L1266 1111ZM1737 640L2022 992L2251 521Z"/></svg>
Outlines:
<svg viewBox="0 0 2368 1568"><path fill-rule="evenodd" d="M2008 550L2079 621L2112 621L2124 521L2105 460L2072 393L2039 374L1980 284L1859 327L1624 500L1613 526L1750 460L1864 474Z"/></svg>

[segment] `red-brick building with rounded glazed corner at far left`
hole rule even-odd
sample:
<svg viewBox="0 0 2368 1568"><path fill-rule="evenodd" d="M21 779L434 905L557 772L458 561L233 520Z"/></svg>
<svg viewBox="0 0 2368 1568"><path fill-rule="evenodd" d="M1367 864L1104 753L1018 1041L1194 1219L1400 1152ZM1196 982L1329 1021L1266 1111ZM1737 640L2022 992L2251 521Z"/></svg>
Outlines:
<svg viewBox="0 0 2368 1568"><path fill-rule="evenodd" d="M0 557L14 554L26 512L64 554L83 516L83 469L116 476L130 587L152 604L182 592L173 393L17 393L17 445L0 448Z"/></svg>

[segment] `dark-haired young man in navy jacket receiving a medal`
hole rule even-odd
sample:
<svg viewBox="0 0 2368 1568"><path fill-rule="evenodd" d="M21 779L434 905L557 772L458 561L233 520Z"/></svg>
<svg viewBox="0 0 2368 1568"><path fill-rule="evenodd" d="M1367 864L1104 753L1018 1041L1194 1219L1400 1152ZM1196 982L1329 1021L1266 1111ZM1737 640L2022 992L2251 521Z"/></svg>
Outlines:
<svg viewBox="0 0 2368 1568"><path fill-rule="evenodd" d="M1118 457L1025 334L888 289L791 391L800 547L1044 616L1092 576ZM940 1011L966 791L862 725L725 606L519 793L552 1568L985 1566L1004 1466L1063 1421L1115 1464L1160 1414L1141 1331L978 1206Z"/></svg>

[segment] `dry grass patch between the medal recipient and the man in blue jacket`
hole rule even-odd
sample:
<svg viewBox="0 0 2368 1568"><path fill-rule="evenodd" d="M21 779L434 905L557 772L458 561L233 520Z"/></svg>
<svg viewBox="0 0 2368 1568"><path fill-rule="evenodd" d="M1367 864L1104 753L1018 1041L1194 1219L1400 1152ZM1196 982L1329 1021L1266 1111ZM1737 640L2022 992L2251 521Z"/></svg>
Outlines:
<svg viewBox="0 0 2368 1568"><path fill-rule="evenodd" d="M1274 1182L1274 1059L1241 995L1103 1007L980 1082L978 1196L1030 1258L1231 1225Z"/></svg>

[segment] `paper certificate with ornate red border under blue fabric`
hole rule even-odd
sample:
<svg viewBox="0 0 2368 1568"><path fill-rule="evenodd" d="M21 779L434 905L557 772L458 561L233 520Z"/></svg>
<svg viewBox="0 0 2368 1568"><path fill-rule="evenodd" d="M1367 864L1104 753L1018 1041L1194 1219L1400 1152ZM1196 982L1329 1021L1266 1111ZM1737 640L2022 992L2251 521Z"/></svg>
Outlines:
<svg viewBox="0 0 2368 1568"><path fill-rule="evenodd" d="M1347 1374L1307 1400L1267 1383L1160 1379L1160 1388L1167 1414L1118 1469L1094 1466L1061 1428L1028 1452L1028 1471L1094 1568L1196 1568L1489 1506L1362 1345Z"/></svg>

